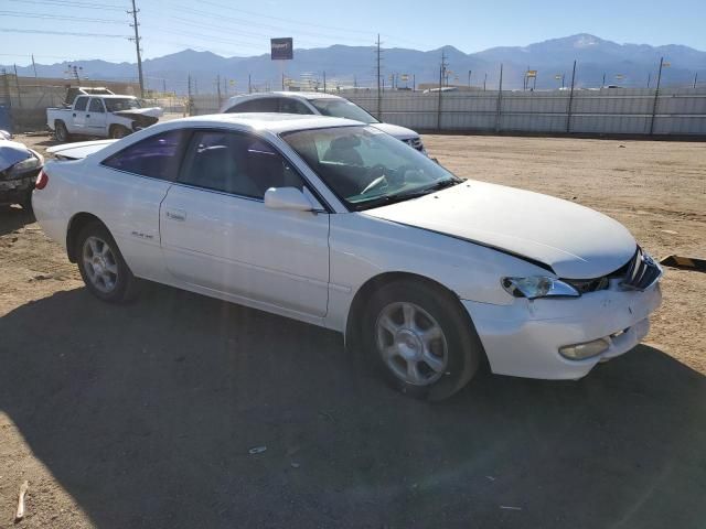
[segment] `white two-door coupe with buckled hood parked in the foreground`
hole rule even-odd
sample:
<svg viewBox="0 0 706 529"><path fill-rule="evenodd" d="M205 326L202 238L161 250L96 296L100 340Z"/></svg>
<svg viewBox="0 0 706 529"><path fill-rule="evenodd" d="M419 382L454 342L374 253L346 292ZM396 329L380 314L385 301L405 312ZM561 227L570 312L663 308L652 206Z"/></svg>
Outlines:
<svg viewBox="0 0 706 529"><path fill-rule="evenodd" d="M634 347L662 270L619 223L463 181L360 122L243 114L55 148L33 194L87 288L137 279L321 325L399 389L578 379Z"/></svg>

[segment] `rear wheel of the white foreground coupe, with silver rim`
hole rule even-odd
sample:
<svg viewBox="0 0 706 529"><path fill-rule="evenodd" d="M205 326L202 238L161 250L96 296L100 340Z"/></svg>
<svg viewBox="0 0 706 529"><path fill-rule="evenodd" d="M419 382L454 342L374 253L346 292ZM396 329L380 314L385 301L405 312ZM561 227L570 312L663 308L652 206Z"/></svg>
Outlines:
<svg viewBox="0 0 706 529"><path fill-rule="evenodd" d="M105 226L99 223L84 226L76 245L78 270L92 294L111 303L135 298L137 279Z"/></svg>

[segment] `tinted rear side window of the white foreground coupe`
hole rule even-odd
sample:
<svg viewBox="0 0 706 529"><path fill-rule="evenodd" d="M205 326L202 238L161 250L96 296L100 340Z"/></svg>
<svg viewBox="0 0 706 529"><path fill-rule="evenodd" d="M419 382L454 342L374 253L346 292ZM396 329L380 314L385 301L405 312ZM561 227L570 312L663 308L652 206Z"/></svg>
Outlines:
<svg viewBox="0 0 706 529"><path fill-rule="evenodd" d="M118 171L160 180L175 180L189 132L170 130L131 144L101 162Z"/></svg>

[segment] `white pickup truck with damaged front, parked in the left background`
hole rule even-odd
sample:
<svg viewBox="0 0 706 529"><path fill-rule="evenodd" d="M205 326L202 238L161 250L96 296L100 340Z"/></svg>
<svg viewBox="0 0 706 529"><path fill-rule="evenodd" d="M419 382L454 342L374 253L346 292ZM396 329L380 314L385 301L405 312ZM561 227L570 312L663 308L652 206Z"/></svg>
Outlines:
<svg viewBox="0 0 706 529"><path fill-rule="evenodd" d="M47 108L46 125L57 141L71 141L72 136L122 138L159 121L159 107L141 108L132 96L78 96L71 108Z"/></svg>

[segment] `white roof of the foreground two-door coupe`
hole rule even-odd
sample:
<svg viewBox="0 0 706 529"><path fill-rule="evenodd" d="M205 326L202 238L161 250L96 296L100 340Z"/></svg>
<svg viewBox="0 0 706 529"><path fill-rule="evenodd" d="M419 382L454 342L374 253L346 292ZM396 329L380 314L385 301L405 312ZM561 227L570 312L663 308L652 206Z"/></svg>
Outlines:
<svg viewBox="0 0 706 529"><path fill-rule="evenodd" d="M296 130L322 129L328 127L351 127L365 125L360 121L344 118L329 118L325 116L301 115L301 114L276 114L276 112L242 112L242 114L212 114L206 116L192 116L190 118L174 119L165 121L164 128L176 123L189 123L194 127L223 127L239 126L250 130L263 130L280 134ZM169 126L169 127L167 127ZM159 126L152 126L151 129Z"/></svg>

